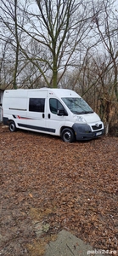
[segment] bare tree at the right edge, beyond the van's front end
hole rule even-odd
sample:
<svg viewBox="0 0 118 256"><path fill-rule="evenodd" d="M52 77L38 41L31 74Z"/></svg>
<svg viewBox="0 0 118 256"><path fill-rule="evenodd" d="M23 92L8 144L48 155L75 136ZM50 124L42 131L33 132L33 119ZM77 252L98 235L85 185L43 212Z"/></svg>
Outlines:
<svg viewBox="0 0 118 256"><path fill-rule="evenodd" d="M106 61L103 62L101 70L99 70L106 134L109 132L110 110L114 102L118 102L118 19L114 6L115 1L103 1L104 16L101 17L93 4L94 32L99 36L101 47L106 55ZM111 20L114 22L111 22Z"/></svg>

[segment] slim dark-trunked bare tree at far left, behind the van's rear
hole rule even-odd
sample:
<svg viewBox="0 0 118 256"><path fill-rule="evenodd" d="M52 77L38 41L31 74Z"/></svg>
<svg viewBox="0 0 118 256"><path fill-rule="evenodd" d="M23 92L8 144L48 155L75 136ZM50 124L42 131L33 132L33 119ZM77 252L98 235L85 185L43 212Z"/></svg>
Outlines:
<svg viewBox="0 0 118 256"><path fill-rule="evenodd" d="M22 14L17 0L14 0L14 2L1 0L0 6L0 24L3 30L1 41L2 44L4 44L4 48L6 44L8 45L5 55L9 56L8 61L13 64L11 69L11 79L8 84L13 84L14 89L17 89L17 79L18 74L20 74L20 41L23 38L23 30L18 27L18 24L20 22L20 27L24 26L25 18L23 13L26 2L27 1L25 1L24 6L22 5Z"/></svg>

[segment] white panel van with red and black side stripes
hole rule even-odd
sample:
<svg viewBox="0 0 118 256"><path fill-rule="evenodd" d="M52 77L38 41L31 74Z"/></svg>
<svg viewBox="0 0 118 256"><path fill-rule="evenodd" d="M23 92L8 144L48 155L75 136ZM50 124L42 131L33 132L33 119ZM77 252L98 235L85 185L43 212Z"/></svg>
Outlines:
<svg viewBox="0 0 118 256"><path fill-rule="evenodd" d="M104 134L98 114L81 96L66 89L5 90L3 124L60 136L64 142L89 140Z"/></svg>

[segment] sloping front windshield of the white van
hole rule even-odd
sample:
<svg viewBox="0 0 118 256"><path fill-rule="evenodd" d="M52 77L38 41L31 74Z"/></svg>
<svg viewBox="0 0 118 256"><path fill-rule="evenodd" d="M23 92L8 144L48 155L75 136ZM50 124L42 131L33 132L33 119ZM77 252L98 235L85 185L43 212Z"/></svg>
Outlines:
<svg viewBox="0 0 118 256"><path fill-rule="evenodd" d="M62 100L72 113L93 113L93 109L82 98L67 97Z"/></svg>

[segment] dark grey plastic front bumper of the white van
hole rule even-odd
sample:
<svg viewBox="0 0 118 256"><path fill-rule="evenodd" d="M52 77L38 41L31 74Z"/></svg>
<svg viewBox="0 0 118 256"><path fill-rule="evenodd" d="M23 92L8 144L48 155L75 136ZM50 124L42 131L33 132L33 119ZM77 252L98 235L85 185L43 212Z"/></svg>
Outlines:
<svg viewBox="0 0 118 256"><path fill-rule="evenodd" d="M75 131L77 141L91 140L104 135L104 128L92 131L90 125L87 124L74 124L72 128Z"/></svg>

